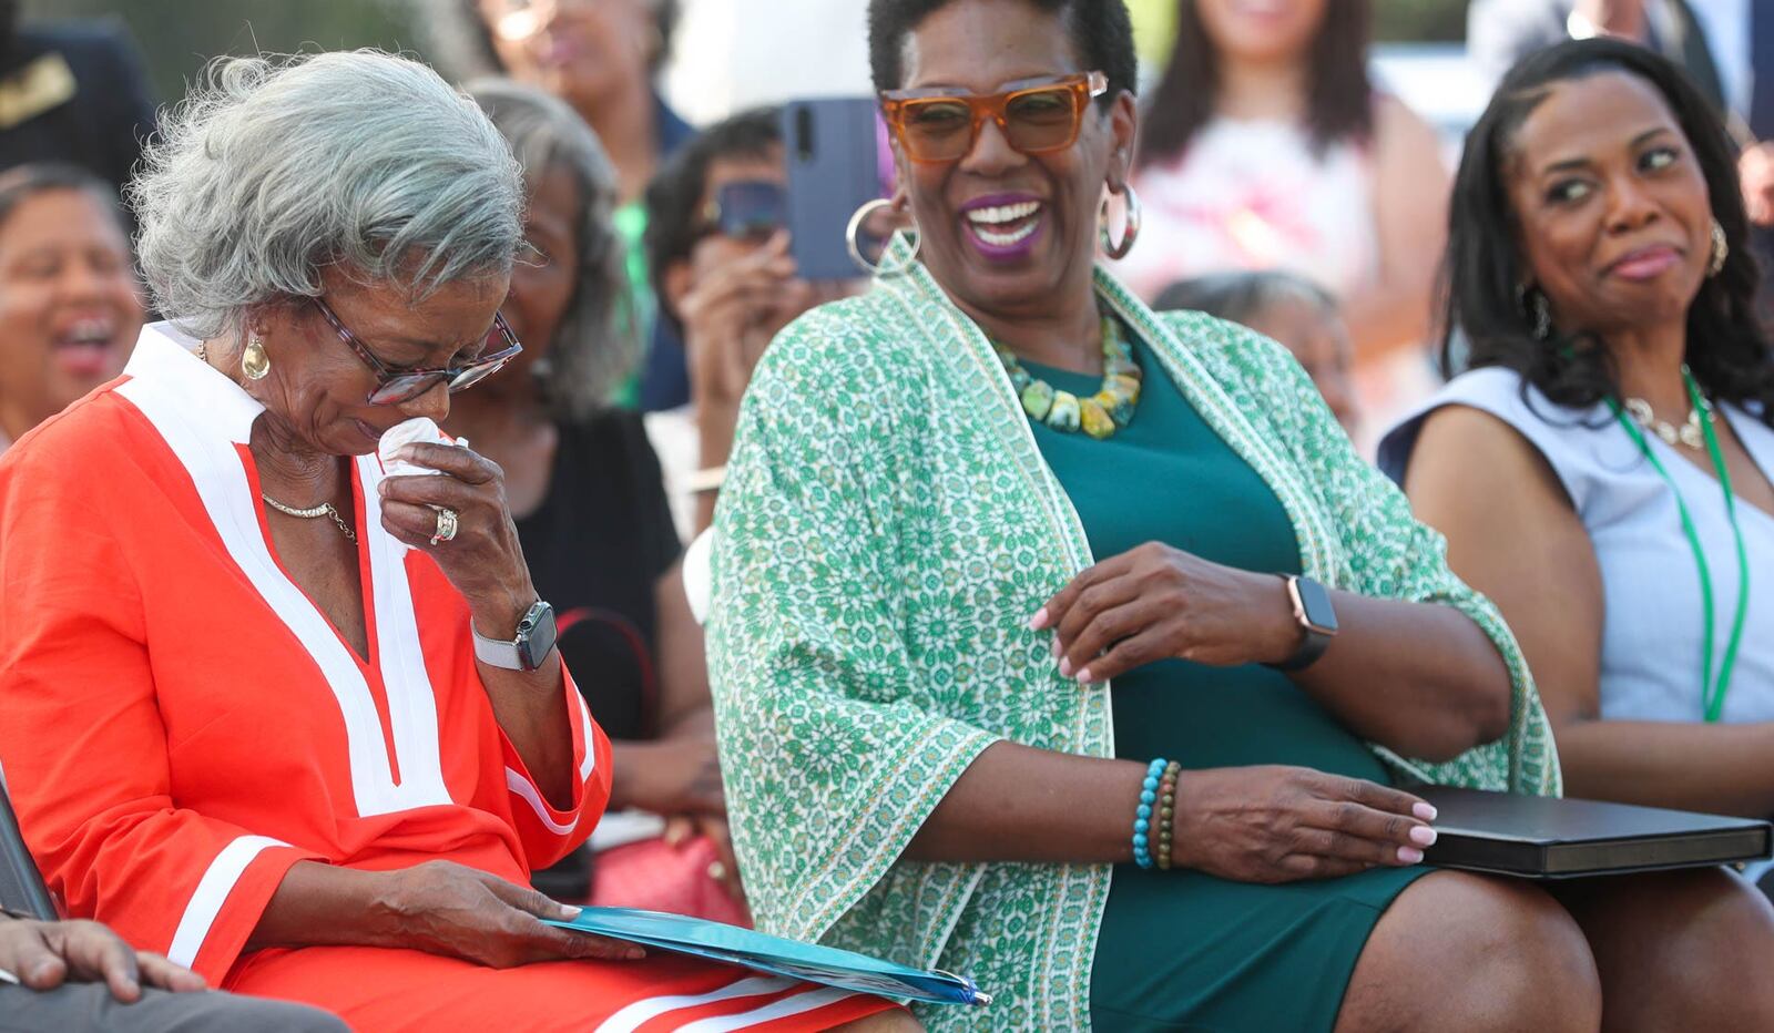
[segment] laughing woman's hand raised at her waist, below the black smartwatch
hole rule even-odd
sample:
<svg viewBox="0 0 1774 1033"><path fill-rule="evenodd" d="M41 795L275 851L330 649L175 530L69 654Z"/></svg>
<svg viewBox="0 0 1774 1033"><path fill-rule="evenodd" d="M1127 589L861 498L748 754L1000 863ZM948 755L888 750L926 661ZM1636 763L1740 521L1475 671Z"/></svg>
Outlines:
<svg viewBox="0 0 1774 1033"><path fill-rule="evenodd" d="M1274 664L1299 646L1286 582L1148 541L1071 579L1029 627L1054 628L1059 673L1107 682L1166 658Z"/></svg>

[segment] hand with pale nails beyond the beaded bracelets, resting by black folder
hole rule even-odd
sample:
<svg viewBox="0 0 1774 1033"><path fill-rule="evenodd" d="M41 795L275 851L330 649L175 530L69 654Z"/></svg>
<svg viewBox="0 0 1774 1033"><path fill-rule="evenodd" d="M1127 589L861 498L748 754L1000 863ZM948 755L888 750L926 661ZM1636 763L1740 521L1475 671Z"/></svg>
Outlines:
<svg viewBox="0 0 1774 1033"><path fill-rule="evenodd" d="M1435 841L1433 818L1410 793L1304 767L1185 770L1171 861L1235 882L1405 868Z"/></svg>

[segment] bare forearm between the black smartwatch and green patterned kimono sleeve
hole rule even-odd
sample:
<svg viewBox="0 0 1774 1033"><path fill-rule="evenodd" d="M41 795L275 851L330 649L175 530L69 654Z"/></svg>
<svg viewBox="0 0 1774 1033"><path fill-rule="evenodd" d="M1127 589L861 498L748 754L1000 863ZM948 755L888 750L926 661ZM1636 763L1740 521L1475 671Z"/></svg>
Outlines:
<svg viewBox="0 0 1774 1033"><path fill-rule="evenodd" d="M1295 682L1355 735L1453 760L1510 728L1510 671L1485 632L1437 603L1332 593L1338 635Z"/></svg>

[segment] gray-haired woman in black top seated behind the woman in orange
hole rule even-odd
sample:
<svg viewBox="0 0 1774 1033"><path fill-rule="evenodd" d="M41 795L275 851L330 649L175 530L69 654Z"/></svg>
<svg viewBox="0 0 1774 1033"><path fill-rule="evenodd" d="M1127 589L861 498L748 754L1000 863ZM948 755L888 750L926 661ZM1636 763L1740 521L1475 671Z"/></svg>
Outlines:
<svg viewBox="0 0 1774 1033"><path fill-rule="evenodd" d="M575 852L536 886L745 921L703 628L685 598L660 461L640 417L608 405L640 357L610 225L616 172L564 101L509 80L467 92L511 144L529 190L527 257L504 305L525 350L454 403L447 430L506 470L506 504L536 587L555 605L561 655L598 673L580 690L612 738L610 809L649 815L626 822L639 841L601 850L591 870ZM663 836L651 815L671 818Z"/></svg>

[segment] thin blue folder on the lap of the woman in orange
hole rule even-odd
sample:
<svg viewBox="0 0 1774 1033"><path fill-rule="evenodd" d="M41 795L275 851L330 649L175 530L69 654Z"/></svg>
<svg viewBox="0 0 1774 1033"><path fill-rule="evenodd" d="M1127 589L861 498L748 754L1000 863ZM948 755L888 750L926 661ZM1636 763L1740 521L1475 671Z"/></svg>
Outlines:
<svg viewBox="0 0 1774 1033"><path fill-rule="evenodd" d="M585 907L573 921L548 925L589 932L646 948L743 966L777 976L862 990L883 998L907 998L931 1005L990 1005L967 976L914 969L853 951L765 935L736 925L639 911L633 907Z"/></svg>

